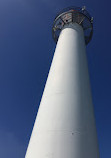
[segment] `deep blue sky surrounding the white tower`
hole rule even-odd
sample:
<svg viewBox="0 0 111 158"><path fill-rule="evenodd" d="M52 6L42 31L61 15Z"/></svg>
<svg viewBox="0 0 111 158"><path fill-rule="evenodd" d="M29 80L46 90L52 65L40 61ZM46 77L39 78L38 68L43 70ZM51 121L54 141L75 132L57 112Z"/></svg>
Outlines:
<svg viewBox="0 0 111 158"><path fill-rule="evenodd" d="M24 158L53 57L51 29L68 6L94 17L87 46L101 158L111 157L110 0L0 1L0 157Z"/></svg>

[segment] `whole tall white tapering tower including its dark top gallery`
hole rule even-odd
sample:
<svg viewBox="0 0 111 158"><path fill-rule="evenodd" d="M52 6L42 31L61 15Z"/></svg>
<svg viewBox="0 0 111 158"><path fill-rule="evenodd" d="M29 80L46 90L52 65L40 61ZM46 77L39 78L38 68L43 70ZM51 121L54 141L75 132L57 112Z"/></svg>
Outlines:
<svg viewBox="0 0 111 158"><path fill-rule="evenodd" d="M99 158L86 58L92 32L85 7L55 18L57 46L25 158Z"/></svg>

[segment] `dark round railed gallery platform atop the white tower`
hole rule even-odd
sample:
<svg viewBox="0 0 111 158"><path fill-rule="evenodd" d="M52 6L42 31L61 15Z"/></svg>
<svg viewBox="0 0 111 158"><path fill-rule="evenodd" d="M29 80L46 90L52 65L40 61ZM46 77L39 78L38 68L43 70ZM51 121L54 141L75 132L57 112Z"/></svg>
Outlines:
<svg viewBox="0 0 111 158"><path fill-rule="evenodd" d="M85 7L69 7L60 12L53 23L52 35L57 42L59 34L65 24L77 23L84 30L85 43L88 44L93 34L93 18L89 15Z"/></svg>

